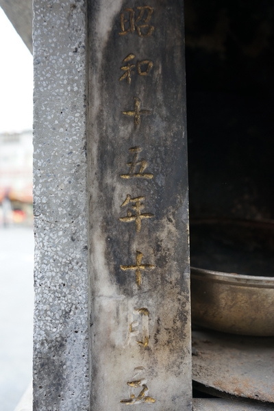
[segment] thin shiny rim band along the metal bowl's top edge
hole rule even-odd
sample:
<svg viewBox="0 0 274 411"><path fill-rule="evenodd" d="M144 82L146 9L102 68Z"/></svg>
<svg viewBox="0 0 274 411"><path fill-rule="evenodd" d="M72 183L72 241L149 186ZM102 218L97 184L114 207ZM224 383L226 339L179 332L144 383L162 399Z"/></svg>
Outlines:
<svg viewBox="0 0 274 411"><path fill-rule="evenodd" d="M236 273L222 273L207 269L198 269L190 266L190 279L197 278L202 281L214 281L234 286L274 288L274 277L262 277L259 275L242 275Z"/></svg>

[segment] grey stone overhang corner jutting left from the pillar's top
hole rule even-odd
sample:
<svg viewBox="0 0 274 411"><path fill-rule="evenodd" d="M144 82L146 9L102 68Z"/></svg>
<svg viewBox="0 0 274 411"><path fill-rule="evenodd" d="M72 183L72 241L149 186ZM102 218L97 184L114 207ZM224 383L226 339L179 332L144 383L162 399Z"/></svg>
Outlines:
<svg viewBox="0 0 274 411"><path fill-rule="evenodd" d="M0 6L32 53L32 0L0 0Z"/></svg>

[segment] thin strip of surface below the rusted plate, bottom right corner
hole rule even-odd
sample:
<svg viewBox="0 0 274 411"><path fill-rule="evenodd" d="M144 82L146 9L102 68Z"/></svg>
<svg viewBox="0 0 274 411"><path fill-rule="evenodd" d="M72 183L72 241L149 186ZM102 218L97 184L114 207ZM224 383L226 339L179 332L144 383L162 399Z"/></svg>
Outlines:
<svg viewBox="0 0 274 411"><path fill-rule="evenodd" d="M229 399L193 399L193 411L273 411L274 406L242 403Z"/></svg>

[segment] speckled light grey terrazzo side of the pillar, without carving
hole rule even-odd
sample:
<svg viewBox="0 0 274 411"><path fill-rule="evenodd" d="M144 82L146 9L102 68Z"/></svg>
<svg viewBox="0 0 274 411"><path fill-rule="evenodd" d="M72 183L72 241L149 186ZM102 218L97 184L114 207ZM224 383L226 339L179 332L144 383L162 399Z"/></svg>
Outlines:
<svg viewBox="0 0 274 411"><path fill-rule="evenodd" d="M34 0L34 411L90 410L86 1Z"/></svg>

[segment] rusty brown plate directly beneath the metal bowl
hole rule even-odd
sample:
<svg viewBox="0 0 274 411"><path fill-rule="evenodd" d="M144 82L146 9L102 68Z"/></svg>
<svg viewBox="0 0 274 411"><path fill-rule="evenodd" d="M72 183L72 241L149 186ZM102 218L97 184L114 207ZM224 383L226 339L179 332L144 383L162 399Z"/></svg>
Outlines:
<svg viewBox="0 0 274 411"><path fill-rule="evenodd" d="M274 338L192 333L192 379L219 397L274 403Z"/></svg>

